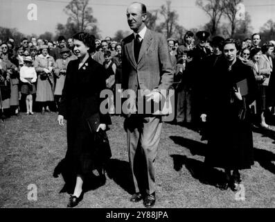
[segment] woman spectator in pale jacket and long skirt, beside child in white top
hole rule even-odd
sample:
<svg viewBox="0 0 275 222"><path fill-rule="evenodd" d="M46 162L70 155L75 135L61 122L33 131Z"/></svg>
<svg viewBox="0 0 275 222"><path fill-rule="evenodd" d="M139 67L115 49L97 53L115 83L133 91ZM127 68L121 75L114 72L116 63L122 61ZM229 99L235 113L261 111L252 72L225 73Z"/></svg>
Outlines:
<svg viewBox="0 0 275 222"><path fill-rule="evenodd" d="M37 56L34 67L37 72L37 92L36 101L40 103L41 112L51 112L48 108L51 101L53 101L53 65L55 60L48 55L48 46L40 47L42 53Z"/></svg>

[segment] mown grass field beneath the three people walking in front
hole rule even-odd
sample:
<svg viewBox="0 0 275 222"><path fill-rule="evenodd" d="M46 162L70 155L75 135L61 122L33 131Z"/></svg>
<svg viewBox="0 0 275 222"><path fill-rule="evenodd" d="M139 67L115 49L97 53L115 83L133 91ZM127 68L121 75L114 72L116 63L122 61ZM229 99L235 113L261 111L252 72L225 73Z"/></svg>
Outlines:
<svg viewBox="0 0 275 222"><path fill-rule="evenodd" d="M66 153L66 127L57 114L21 114L0 123L0 207L66 207L69 194L60 193L62 176L53 171ZM85 193L78 207L143 207L130 203L130 169L127 162L123 118L112 117L109 130L112 159L104 186ZM206 142L198 133L163 124L156 162L159 208L181 207L275 207L275 133L254 133L255 164L241 171L245 200L202 180ZM217 175L220 173L215 170ZM28 200L28 185L37 186L37 200Z"/></svg>

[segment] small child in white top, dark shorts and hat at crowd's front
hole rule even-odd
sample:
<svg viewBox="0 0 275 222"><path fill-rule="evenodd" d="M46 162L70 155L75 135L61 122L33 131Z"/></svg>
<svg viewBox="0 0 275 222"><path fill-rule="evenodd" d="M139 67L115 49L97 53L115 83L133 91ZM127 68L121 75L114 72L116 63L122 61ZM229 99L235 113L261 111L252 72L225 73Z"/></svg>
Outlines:
<svg viewBox="0 0 275 222"><path fill-rule="evenodd" d="M35 82L37 74L30 56L24 58L24 66L20 69L21 94L26 96L26 114L33 114L33 94L35 94Z"/></svg>

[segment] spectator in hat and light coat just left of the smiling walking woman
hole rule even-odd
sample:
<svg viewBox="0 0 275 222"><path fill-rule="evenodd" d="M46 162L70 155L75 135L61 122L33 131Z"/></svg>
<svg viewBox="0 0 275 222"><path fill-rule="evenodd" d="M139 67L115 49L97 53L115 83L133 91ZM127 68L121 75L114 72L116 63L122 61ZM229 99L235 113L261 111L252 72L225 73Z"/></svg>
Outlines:
<svg viewBox="0 0 275 222"><path fill-rule="evenodd" d="M62 95L62 89L64 87L65 77L66 77L66 67L68 66L70 49L64 47L60 51L62 58L59 58L55 61L54 74L56 76L55 84L55 103L57 108L60 104L60 98Z"/></svg>

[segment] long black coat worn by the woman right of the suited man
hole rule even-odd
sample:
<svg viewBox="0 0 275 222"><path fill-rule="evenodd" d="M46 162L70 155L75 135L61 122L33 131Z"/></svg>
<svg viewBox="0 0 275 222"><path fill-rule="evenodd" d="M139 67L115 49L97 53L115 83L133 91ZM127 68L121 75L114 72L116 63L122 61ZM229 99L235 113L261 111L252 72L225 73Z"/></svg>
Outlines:
<svg viewBox="0 0 275 222"><path fill-rule="evenodd" d="M213 69L208 99L204 105L209 123L209 146L205 163L223 169L249 169L254 164L253 138L249 112L245 120L238 118L243 101L234 99L233 85L247 79L248 94L245 107L255 100L256 80L251 67L237 58L228 70L227 61L220 58Z"/></svg>

